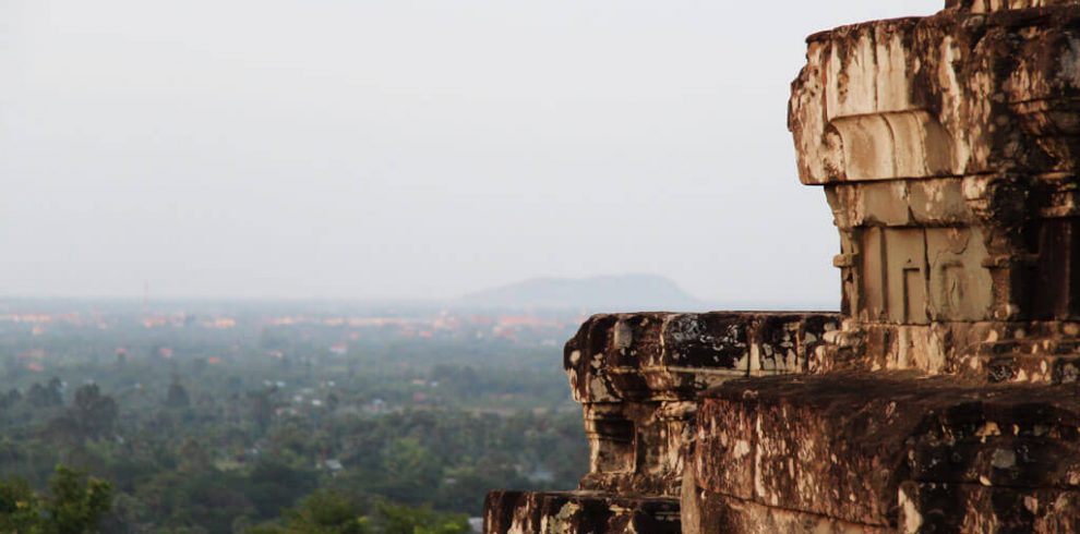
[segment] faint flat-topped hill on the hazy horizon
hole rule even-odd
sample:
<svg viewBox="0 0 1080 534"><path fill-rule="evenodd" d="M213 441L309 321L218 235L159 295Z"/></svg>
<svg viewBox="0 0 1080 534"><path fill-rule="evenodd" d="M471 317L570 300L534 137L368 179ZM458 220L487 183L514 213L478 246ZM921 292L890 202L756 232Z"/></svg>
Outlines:
<svg viewBox="0 0 1080 534"><path fill-rule="evenodd" d="M457 299L455 304L595 312L697 311L705 306L674 281L651 275L532 278L470 293Z"/></svg>

